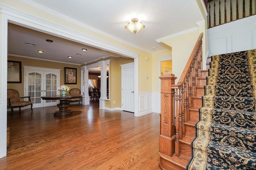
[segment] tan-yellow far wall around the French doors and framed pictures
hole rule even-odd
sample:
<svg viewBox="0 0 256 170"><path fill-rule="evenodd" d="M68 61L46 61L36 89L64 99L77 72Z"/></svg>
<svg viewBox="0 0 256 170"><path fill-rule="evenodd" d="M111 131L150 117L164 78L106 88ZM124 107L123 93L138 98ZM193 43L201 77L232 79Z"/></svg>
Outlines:
<svg viewBox="0 0 256 170"><path fill-rule="evenodd" d="M24 65L25 66L35 66L35 67L44 67L44 68L56 68L60 70L60 85L64 84L64 67L71 67L76 68L77 70L77 80L76 84L66 84L70 88L79 88L81 90L81 71L79 65L74 64L64 64L64 63L56 63L50 61L42 61L42 60L34 60L34 59L27 59L22 57L13 57L8 56L8 60L11 61L21 61L22 64L22 83L8 83L7 88L18 90L20 96L24 96Z"/></svg>

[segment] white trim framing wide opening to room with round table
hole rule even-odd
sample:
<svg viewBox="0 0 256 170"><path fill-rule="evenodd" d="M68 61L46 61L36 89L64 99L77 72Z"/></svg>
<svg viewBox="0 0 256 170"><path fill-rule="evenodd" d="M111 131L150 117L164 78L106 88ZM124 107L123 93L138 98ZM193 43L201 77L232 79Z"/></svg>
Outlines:
<svg viewBox="0 0 256 170"><path fill-rule="evenodd" d="M5 4L0 4L0 8L2 9L2 20L1 23L1 66L2 66L2 74L1 76L1 91L0 91L0 109L2 112L0 113L0 158L6 156L7 149L6 149L6 134L7 134L7 44L8 44L8 22L22 25L37 31L41 31L44 33L48 33L51 35L55 35L58 37L64 37L74 42L83 43L85 45L90 45L92 47L96 47L98 49L110 51L112 53L116 53L119 55L123 55L125 57L129 57L134 59L134 116L138 116L138 55L139 53L134 52L132 50L126 49L124 47L120 47L118 45L114 45L112 43L106 42L104 40L98 39L93 37L92 35L87 35L86 32L79 32L78 30L69 29L64 25L59 25L58 23L54 23L52 20L46 20L45 18L39 18L38 16L32 15L29 12L30 8L28 4L24 4L27 10L21 11L13 8L12 6L6 6ZM36 8L36 7L34 7ZM24 8L23 8L24 9ZM41 9L41 10L46 10ZM49 14L49 13L47 13ZM57 13L54 13L55 15ZM52 14L52 15L54 15ZM50 15L50 14L49 14ZM59 18L65 16L58 16ZM70 23L74 23L89 29L83 23L78 21L74 21L64 18L63 20L67 20ZM94 31L97 32L95 29ZM98 33L98 32L97 32ZM100 34L100 33L99 33Z"/></svg>

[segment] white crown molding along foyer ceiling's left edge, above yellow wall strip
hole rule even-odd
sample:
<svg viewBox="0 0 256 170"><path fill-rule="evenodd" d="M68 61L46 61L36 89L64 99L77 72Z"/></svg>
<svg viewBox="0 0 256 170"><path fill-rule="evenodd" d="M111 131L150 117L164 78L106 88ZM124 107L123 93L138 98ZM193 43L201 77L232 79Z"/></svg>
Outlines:
<svg viewBox="0 0 256 170"><path fill-rule="evenodd" d="M59 12L56 12L56 11L54 11L54 10L51 10L50 8L47 8L47 7L42 6L42 5L40 5L40 4L37 4L36 2L33 2L33 1L31 1L31 0L19 0L19 1L20 1L20 2L23 2L23 3L25 3L25 4L28 4L28 5L30 5L30 6L32 6L32 7L34 7L34 8L40 9L40 10L42 10L42 11L44 11L44 12L47 12L47 13L49 13L49 14L52 14L52 15L54 15L54 16L57 16L57 17L59 17L59 18L62 18L63 20L69 21L69 22L71 22L71 23L74 23L74 24L79 25L79 26L81 26L81 27L84 27L84 28L86 28L86 29L89 29L90 31L94 31L94 32L99 33L99 34L101 34L101 35L104 35L104 36L106 36L106 37L108 37L108 38L111 38L111 39L114 39L114 40L116 40L116 41L119 41L120 43L124 43L124 44L129 45L129 46L131 46L131 47L134 47L134 48L136 48L136 49L140 49L140 50L142 50L142 51L146 51L146 52L148 52L148 53L151 53L151 52L148 51L147 49L144 49L144 48L142 48L142 47L139 47L139 46L137 46L137 45L134 45L134 44L132 44L132 43L129 43L129 42L127 42L127 41L124 41L124 40L122 40L122 39L120 39L120 38L118 38L118 37L115 37L115 36L113 36L113 35L110 35L110 34L108 34L108 33L105 33L105 32L103 32L103 31L100 31L99 29L96 29L96 28L94 28L94 27L91 27L91 26L89 26L89 25L86 25L86 24L84 24L84 23L82 23L82 22L80 22L80 21L74 20L73 18L70 18L70 17L65 16L65 15L63 15L63 14L60 14Z"/></svg>

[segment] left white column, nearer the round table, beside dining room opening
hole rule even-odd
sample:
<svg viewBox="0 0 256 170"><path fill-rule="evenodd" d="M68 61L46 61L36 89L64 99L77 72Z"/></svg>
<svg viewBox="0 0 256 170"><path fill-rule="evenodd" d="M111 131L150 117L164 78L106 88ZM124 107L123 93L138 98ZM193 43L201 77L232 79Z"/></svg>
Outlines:
<svg viewBox="0 0 256 170"><path fill-rule="evenodd" d="M83 105L90 104L90 97L88 92L88 77L89 70L86 69L86 66L81 66L81 94L83 95L82 99Z"/></svg>

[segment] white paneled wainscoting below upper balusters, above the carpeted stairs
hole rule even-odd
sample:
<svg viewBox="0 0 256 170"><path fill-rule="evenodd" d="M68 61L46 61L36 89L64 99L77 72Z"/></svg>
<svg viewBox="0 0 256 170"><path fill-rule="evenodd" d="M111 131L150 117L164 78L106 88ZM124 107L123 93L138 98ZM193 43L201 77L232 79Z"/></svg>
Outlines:
<svg viewBox="0 0 256 170"><path fill-rule="evenodd" d="M209 56L256 49L256 16L208 29Z"/></svg>

